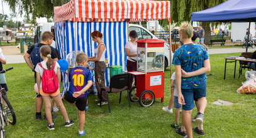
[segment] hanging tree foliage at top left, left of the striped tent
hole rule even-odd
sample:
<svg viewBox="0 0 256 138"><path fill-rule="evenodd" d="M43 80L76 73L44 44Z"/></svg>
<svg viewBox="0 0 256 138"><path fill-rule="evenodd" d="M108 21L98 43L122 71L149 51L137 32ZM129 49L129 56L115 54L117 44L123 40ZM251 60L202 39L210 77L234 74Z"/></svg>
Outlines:
<svg viewBox="0 0 256 138"><path fill-rule="evenodd" d="M35 23L36 18L53 18L53 7L61 6L70 0L4 0L15 13L18 6L18 14L25 14L26 18Z"/></svg>

